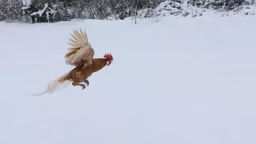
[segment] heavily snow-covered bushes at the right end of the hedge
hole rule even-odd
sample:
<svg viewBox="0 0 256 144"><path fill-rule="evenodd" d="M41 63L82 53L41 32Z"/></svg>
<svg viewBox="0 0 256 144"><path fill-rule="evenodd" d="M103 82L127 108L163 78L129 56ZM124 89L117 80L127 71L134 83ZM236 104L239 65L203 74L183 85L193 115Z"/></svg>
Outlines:
<svg viewBox="0 0 256 144"><path fill-rule="evenodd" d="M207 11L222 16L234 14L255 14L256 2L254 0L214 1L214 0L167 0L161 2L150 14L144 14L147 9L140 10L138 18L150 18L150 16L165 17L169 15L180 17L200 17ZM146 16L143 16L146 15Z"/></svg>

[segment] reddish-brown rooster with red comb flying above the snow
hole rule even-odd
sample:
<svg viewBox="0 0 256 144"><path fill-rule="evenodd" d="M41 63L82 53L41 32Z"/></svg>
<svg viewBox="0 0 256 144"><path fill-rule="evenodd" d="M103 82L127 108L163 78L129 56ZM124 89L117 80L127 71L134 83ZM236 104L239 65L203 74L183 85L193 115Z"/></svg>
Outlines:
<svg viewBox="0 0 256 144"><path fill-rule="evenodd" d="M89 86L88 78L91 74L102 70L104 66L110 66L113 62L113 56L108 53L104 54L104 58L94 58L94 48L88 42L86 31L74 30L70 35L70 48L64 58L67 65L75 66L74 69L54 79L42 93L34 95L52 94L61 86L67 86L71 82L73 86L81 86L84 90Z"/></svg>

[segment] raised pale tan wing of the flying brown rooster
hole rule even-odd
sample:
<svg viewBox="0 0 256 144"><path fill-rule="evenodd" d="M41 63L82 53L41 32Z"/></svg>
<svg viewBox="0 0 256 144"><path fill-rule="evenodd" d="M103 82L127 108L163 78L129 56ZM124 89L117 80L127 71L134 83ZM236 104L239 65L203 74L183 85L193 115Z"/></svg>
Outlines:
<svg viewBox="0 0 256 144"><path fill-rule="evenodd" d="M91 65L94 58L94 48L88 42L86 31L74 30L69 38L70 48L66 53L66 64L72 66Z"/></svg>

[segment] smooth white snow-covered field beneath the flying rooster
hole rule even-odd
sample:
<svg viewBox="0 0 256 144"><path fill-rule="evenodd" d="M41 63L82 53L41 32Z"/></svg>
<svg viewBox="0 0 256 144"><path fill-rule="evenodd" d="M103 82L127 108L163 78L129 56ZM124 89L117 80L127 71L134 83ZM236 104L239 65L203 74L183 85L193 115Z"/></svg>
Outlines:
<svg viewBox="0 0 256 144"><path fill-rule="evenodd" d="M255 144L256 18L0 22L1 144ZM114 63L40 97L87 31Z"/></svg>

